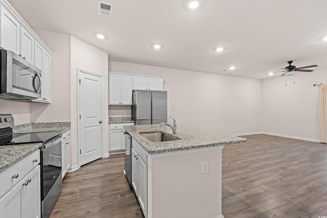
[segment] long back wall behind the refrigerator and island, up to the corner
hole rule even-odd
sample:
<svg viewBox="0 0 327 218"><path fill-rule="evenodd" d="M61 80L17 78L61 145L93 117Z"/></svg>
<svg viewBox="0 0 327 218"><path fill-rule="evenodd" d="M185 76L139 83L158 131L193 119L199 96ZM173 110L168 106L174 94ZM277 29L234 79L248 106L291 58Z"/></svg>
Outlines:
<svg viewBox="0 0 327 218"><path fill-rule="evenodd" d="M168 115L180 125L226 134L261 130L260 80L116 61L108 64L109 71L163 76ZM129 108L122 110L130 114ZM109 115L117 112L109 106Z"/></svg>

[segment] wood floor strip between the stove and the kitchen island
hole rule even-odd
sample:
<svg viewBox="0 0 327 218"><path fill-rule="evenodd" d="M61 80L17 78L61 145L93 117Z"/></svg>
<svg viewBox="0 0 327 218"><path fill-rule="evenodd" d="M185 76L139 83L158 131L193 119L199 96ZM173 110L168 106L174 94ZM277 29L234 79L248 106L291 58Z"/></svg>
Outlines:
<svg viewBox="0 0 327 218"><path fill-rule="evenodd" d="M67 173L49 218L143 218L124 171L124 155L110 155Z"/></svg>

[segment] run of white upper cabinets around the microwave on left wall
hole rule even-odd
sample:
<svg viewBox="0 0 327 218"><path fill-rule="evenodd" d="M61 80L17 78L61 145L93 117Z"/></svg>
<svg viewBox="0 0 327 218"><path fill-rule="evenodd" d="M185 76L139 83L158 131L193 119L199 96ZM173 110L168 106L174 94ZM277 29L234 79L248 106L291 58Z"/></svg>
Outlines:
<svg viewBox="0 0 327 218"><path fill-rule="evenodd" d="M13 51L41 70L41 98L33 101L50 103L53 53L7 1L0 0L0 10L0 46Z"/></svg>

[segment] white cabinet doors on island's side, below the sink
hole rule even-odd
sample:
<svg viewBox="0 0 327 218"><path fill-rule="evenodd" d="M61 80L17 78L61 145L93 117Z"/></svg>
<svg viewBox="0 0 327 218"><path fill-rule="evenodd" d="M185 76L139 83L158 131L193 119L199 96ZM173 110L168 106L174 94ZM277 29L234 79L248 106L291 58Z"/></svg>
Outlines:
<svg viewBox="0 0 327 218"><path fill-rule="evenodd" d="M144 216L148 217L148 164L145 155L141 145L132 140L132 187Z"/></svg>

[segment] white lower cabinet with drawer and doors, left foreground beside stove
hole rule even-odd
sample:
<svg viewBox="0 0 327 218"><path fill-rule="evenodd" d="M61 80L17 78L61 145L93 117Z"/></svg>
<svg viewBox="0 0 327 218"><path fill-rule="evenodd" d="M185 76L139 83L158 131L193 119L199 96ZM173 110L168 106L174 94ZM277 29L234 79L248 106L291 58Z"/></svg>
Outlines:
<svg viewBox="0 0 327 218"><path fill-rule="evenodd" d="M39 154L39 150L35 151L0 174L0 181L7 181L1 184L6 184L6 188L11 186L7 190L0 187L1 217L41 217Z"/></svg>

